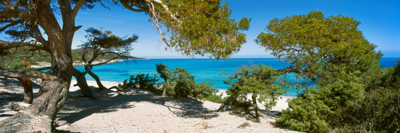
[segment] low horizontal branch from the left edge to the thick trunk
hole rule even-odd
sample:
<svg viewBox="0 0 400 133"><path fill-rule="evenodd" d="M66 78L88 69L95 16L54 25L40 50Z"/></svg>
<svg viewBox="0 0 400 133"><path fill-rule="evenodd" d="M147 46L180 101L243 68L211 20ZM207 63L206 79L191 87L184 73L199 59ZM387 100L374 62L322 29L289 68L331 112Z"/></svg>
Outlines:
<svg viewBox="0 0 400 133"><path fill-rule="evenodd" d="M38 70L5 70L0 69L0 76L10 77L10 78L42 78L43 80L52 80L54 75L41 72Z"/></svg>

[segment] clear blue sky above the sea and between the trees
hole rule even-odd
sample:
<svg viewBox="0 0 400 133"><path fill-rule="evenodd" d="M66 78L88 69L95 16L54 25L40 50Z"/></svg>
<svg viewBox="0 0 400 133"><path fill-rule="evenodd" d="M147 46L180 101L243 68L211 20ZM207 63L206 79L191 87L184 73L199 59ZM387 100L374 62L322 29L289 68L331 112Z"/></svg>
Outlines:
<svg viewBox="0 0 400 133"><path fill-rule="evenodd" d="M221 3L225 2L226 0L222 0ZM228 0L228 5L232 10L231 18L252 18L250 29L243 32L247 43L231 58L275 58L270 55L270 51L265 51L254 43L257 35L265 31L264 28L273 18L308 14L316 10L321 11L325 17L342 14L354 18L361 22L358 29L370 43L377 45L376 51L381 51L383 57L400 57L399 0ZM82 25L82 28L74 35L72 49L86 41L85 29L103 27L118 36L139 35L138 42L133 44L132 56L148 59L191 58L165 51L165 44L160 44L160 35L154 31L148 19L148 15L144 13L132 12L118 6L108 10L96 5L94 9L81 10L75 25Z"/></svg>

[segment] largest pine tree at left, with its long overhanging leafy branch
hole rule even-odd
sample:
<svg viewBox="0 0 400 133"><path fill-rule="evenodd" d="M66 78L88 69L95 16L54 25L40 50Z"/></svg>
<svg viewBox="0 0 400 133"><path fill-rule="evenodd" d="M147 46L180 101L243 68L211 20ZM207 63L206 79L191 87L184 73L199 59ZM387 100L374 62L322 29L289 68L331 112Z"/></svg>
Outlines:
<svg viewBox="0 0 400 133"><path fill-rule="evenodd" d="M108 1L107 1L108 2ZM150 14L150 20L160 32L167 47L185 55L208 55L216 59L227 59L237 52L246 42L245 34L250 20L242 18L240 22L230 19L228 4L219 6L219 0L209 1L164 1L164 0L113 0L134 12ZM19 125L30 132L53 132L52 121L64 105L70 86L73 67L71 45L75 31L75 17L80 9L91 9L102 0L5 0L0 2L0 32L9 33L14 43L0 47L0 50L12 47L30 46L32 50L41 50L51 55L51 70L0 70L0 76L12 78L30 77L44 80L38 95L28 108L10 104L10 108L20 110L12 117L1 121L0 127ZM54 8L53 8L54 7ZM60 13L62 24L58 23L56 13ZM171 33L167 40L160 26ZM43 37L40 28L47 34ZM31 44L35 42L35 44ZM19 120L32 120L29 123ZM41 119L34 121L33 119Z"/></svg>

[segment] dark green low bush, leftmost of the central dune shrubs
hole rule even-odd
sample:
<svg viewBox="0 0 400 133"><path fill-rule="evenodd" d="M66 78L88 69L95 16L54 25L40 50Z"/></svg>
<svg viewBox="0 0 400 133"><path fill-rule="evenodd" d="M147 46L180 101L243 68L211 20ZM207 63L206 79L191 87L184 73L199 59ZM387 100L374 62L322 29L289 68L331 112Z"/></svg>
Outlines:
<svg viewBox="0 0 400 133"><path fill-rule="evenodd" d="M137 74L136 76L130 76L129 79L124 80L123 84L118 84L118 88L121 90L129 87L148 90L154 93L160 93L160 84L156 75L149 76L149 74ZM129 80L129 81L128 81Z"/></svg>

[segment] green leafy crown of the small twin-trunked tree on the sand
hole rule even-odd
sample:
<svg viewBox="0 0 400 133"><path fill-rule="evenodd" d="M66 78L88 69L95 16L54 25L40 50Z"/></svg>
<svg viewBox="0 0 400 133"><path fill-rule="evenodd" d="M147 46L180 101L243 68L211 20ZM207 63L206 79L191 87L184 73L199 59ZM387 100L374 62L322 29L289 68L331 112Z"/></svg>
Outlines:
<svg viewBox="0 0 400 133"><path fill-rule="evenodd" d="M227 75L226 73L224 73ZM228 95L239 96L231 107L233 110L249 110L252 102L264 103L265 110L269 111L276 105L280 95L287 92L284 89L287 82L282 72L277 72L271 66L262 64L242 65L230 76L226 77L225 84L229 84ZM248 100L248 94L252 94L252 100ZM258 98L257 98L258 97ZM258 107L253 108L258 117Z"/></svg>

